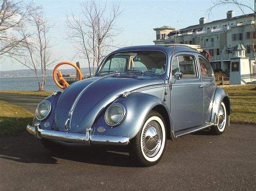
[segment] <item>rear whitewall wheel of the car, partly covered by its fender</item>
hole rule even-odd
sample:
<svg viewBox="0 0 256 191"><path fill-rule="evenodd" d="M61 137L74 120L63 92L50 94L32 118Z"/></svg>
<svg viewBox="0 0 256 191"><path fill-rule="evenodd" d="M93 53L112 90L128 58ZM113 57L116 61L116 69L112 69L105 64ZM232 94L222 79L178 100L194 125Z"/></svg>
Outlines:
<svg viewBox="0 0 256 191"><path fill-rule="evenodd" d="M210 131L214 135L220 135L225 131L226 122L227 122L227 112L224 102L220 104L219 113L217 116L218 123L211 127Z"/></svg>

